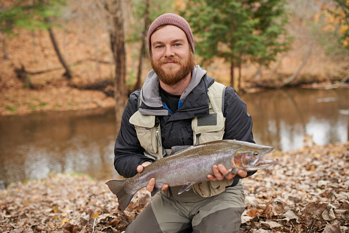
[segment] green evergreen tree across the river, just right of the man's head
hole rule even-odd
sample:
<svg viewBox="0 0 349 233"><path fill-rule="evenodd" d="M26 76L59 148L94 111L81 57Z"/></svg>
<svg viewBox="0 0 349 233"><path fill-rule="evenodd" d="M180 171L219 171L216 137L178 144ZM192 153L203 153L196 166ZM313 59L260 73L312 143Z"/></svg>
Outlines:
<svg viewBox="0 0 349 233"><path fill-rule="evenodd" d="M210 60L216 56L230 63L231 83L234 87L234 68L247 59L269 65L287 43L278 42L285 22L283 0L260 1L187 1L182 14L196 34L195 50ZM197 12L200 12L198 14ZM241 80L239 82L239 87Z"/></svg>

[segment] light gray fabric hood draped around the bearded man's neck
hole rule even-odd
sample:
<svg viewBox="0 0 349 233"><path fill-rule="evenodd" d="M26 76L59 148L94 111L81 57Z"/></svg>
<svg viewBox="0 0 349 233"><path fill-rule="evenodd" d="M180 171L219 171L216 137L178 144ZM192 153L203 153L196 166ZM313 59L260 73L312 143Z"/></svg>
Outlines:
<svg viewBox="0 0 349 233"><path fill-rule="evenodd" d="M188 87L182 93L180 101L184 101L188 94L199 84L201 78L205 76L207 71L201 68L199 65L196 65L192 70L192 79ZM148 107L159 108L162 107L162 101L159 94L159 77L155 74L155 71L152 69L144 82L144 85L141 90L141 100Z"/></svg>

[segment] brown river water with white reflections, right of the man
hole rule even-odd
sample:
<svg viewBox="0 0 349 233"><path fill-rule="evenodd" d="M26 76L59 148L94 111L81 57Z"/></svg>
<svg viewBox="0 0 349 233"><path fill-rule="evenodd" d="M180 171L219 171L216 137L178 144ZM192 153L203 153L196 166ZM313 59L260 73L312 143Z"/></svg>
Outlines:
<svg viewBox="0 0 349 233"><path fill-rule="evenodd" d="M348 89L271 90L242 98L256 142L289 151L302 148L304 135L318 145L348 140Z"/></svg>

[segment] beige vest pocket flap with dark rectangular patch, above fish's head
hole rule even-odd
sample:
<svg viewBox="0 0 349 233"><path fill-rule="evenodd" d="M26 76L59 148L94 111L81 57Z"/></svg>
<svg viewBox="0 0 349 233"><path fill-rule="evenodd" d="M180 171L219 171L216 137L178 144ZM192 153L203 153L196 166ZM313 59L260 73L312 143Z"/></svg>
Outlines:
<svg viewBox="0 0 349 233"><path fill-rule="evenodd" d="M210 113L192 120L192 129L196 134L221 131L224 129L223 113Z"/></svg>

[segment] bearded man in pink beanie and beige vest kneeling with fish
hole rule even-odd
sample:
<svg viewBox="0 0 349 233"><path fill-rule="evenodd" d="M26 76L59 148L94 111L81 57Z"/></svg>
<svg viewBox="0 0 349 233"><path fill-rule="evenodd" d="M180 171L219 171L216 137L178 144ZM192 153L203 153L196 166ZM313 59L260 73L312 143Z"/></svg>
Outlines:
<svg viewBox="0 0 349 233"><path fill-rule="evenodd" d="M153 70L141 90L131 94L115 143L114 165L132 177L172 146L214 140L254 142L251 116L232 87L224 87L194 65L190 25L177 14L163 14L150 25L148 47ZM239 170L227 175L212 167L209 181L178 195L180 187L164 185L126 232L238 232L245 195ZM155 179L146 189L152 192Z"/></svg>

